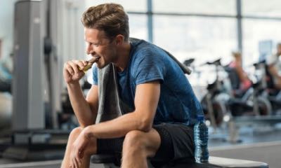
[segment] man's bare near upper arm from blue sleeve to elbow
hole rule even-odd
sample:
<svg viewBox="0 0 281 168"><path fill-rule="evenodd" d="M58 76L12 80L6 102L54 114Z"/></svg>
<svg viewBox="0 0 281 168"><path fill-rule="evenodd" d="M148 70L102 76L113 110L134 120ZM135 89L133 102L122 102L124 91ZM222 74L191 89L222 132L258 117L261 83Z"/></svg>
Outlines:
<svg viewBox="0 0 281 168"><path fill-rule="evenodd" d="M143 123L144 130L150 130L160 96L159 80L136 86L135 113Z"/></svg>

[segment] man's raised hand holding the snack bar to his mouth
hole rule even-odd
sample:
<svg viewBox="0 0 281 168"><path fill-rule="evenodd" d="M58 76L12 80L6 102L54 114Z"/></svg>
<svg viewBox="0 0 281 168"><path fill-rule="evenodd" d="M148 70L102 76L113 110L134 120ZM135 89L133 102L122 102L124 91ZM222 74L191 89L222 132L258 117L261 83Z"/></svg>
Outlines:
<svg viewBox="0 0 281 168"><path fill-rule="evenodd" d="M75 81L79 81L85 75L84 71L79 69L84 69L87 64L88 62L82 60L65 62L65 65L63 66L63 76L65 78L65 82L73 83Z"/></svg>

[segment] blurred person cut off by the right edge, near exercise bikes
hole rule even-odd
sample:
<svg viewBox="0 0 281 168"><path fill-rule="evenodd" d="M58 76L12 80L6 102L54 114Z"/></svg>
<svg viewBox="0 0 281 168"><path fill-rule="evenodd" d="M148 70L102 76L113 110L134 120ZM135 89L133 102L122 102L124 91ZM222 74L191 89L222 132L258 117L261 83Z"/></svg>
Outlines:
<svg viewBox="0 0 281 168"><path fill-rule="evenodd" d="M274 55L269 55L266 59L266 64L268 65L268 72L270 76L273 78L273 87L275 89L281 89L281 62L279 60L279 56L281 55L281 43L277 43L277 52Z"/></svg>

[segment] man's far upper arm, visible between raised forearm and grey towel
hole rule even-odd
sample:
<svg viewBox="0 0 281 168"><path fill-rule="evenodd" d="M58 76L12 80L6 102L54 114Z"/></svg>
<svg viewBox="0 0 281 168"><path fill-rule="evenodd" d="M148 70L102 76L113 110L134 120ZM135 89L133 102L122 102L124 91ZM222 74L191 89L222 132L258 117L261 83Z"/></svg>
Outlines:
<svg viewBox="0 0 281 168"><path fill-rule="evenodd" d="M86 101L89 103L91 112L96 118L96 114L98 113L98 85L91 86L86 96Z"/></svg>

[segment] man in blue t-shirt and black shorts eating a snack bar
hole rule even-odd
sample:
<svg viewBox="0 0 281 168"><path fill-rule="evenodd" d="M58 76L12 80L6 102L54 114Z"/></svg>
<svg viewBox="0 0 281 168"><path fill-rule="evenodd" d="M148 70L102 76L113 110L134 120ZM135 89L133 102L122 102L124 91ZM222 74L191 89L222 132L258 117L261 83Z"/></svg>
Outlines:
<svg viewBox="0 0 281 168"><path fill-rule="evenodd" d="M129 42L129 18L122 6L105 3L85 11L86 52L98 61L93 85L84 98L79 79L86 62L69 61L64 78L80 127L72 130L62 167L89 167L95 153L122 152L122 167L194 158L193 128L200 103L181 68L162 49L146 41ZM95 124L98 70L117 68L120 98L134 110Z"/></svg>

